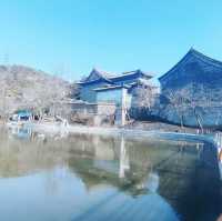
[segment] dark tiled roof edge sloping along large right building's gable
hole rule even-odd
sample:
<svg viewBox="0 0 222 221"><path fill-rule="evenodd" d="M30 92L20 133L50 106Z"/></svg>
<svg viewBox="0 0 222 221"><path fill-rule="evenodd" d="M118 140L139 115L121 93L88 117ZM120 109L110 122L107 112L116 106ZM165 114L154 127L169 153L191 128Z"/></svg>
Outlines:
<svg viewBox="0 0 222 221"><path fill-rule="evenodd" d="M167 79L175 70L178 70L182 63L185 63L189 59L193 59L193 61L201 61L208 66L219 68L222 71L222 62L221 61L212 59L212 58L194 50L193 48L191 48L189 50L189 52L172 69L170 69L167 73L164 73L162 77L160 77L159 80L162 81L162 80Z"/></svg>

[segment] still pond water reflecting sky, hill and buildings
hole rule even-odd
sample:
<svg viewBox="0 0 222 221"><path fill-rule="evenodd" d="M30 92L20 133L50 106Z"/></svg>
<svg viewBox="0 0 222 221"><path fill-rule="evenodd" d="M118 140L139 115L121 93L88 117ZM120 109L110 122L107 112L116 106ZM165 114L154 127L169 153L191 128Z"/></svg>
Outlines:
<svg viewBox="0 0 222 221"><path fill-rule="evenodd" d="M0 220L216 220L215 149L189 141L0 129Z"/></svg>

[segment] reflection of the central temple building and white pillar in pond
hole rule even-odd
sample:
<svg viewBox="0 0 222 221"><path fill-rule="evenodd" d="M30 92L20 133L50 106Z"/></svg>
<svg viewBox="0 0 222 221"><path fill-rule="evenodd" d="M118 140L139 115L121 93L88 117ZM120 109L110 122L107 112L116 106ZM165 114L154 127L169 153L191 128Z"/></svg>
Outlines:
<svg viewBox="0 0 222 221"><path fill-rule="evenodd" d="M88 190L93 190L101 184L111 184L131 194L140 194L141 191L147 190L157 191L159 179L157 173L151 172L149 149L141 152L140 148L134 148L133 141L125 141L123 137L120 139L88 137L87 140L81 141L82 145L84 145L82 151L80 147L73 150L78 154L72 155L69 165L80 175ZM143 149L143 145L141 148ZM125 189L125 185L129 188Z"/></svg>

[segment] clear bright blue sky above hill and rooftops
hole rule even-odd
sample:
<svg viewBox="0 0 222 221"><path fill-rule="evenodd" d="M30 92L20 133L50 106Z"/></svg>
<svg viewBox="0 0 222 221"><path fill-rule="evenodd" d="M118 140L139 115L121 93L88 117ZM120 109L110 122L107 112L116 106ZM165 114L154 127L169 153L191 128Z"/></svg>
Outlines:
<svg viewBox="0 0 222 221"><path fill-rule="evenodd" d="M191 47L222 60L221 0L0 0L0 62L69 80L93 67L161 76Z"/></svg>

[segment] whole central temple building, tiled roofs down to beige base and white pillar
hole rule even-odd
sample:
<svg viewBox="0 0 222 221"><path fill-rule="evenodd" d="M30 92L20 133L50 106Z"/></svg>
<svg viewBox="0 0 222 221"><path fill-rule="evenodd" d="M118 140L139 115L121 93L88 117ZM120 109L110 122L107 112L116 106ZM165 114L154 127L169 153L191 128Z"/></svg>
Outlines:
<svg viewBox="0 0 222 221"><path fill-rule="evenodd" d="M133 91L139 86L150 87L151 74L141 70L128 71L121 74L108 73L93 69L88 78L80 81L80 100L84 107L77 112L90 112L91 106L97 106L93 111L94 124L100 124L104 115L114 115L114 123L124 125L129 119L129 110L133 102ZM77 104L73 107L77 110ZM99 110L100 109L100 110ZM127 117L128 115L128 117Z"/></svg>

